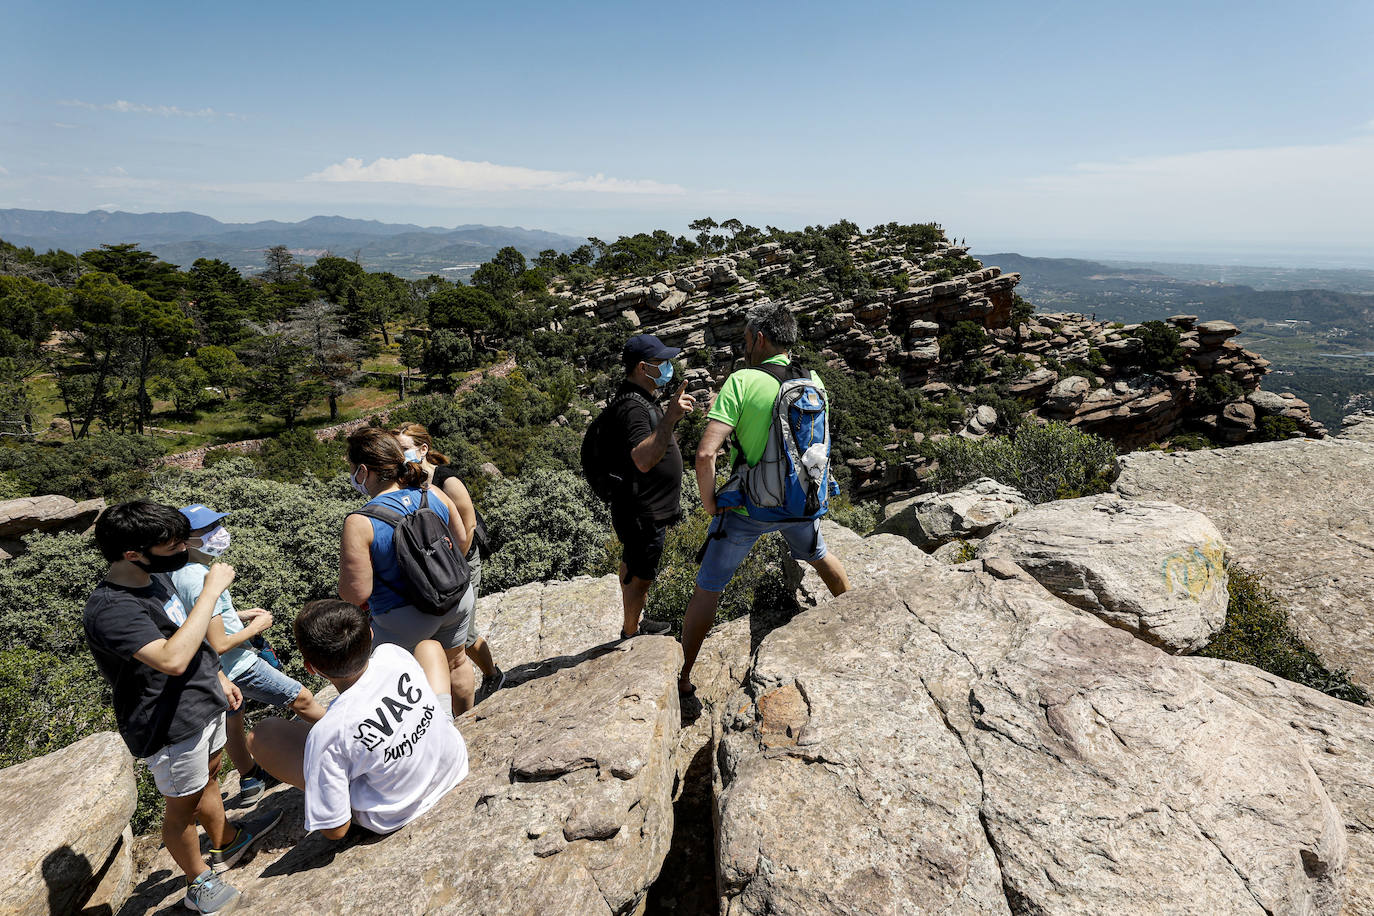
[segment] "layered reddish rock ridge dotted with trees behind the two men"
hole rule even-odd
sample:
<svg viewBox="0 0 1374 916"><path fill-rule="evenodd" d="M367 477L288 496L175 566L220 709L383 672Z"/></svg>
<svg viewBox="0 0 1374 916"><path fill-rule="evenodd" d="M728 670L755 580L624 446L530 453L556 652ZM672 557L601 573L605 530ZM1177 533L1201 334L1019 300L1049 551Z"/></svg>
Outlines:
<svg viewBox="0 0 1374 916"><path fill-rule="evenodd" d="M856 374L894 371L904 386L930 400L967 398L966 422L952 422L948 430L966 438L981 438L1007 419L980 413L992 411L978 402L981 385L1020 398L1035 417L1079 426L1125 449L1182 433L1223 444L1325 435L1301 400L1260 390L1270 364L1238 345L1232 339L1238 328L1227 321L1171 317L1179 350L1158 368L1160 354L1146 352L1140 325L1077 313L1014 317L1020 276L978 264L962 246L929 242L915 254L904 238L882 228L853 235L845 244L868 279L868 288L853 298L835 288L812 254L779 242L680 271L607 280L596 294L574 291L562 280L551 293L574 314L627 319L684 347L692 367L684 376L698 402L709 401L739 367L747 306L769 297L774 280L786 279L805 290L789 305L802 339L822 360ZM965 321L984 330L982 345L945 349ZM929 459L901 448L904 439L896 433L888 442L890 457L852 456L860 463L851 468L856 497L890 499L923 489Z"/></svg>

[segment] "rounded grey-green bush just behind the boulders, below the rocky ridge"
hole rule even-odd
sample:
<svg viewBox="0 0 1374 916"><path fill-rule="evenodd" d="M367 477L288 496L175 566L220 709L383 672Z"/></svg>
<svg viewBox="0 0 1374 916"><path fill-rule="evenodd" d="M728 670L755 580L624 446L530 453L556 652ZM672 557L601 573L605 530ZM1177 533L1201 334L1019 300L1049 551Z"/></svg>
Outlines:
<svg viewBox="0 0 1374 916"><path fill-rule="evenodd" d="M1011 435L969 441L952 435L932 446L941 493L980 477L1013 486L1032 503L1102 493L1112 485L1116 446L1065 423L1025 423Z"/></svg>

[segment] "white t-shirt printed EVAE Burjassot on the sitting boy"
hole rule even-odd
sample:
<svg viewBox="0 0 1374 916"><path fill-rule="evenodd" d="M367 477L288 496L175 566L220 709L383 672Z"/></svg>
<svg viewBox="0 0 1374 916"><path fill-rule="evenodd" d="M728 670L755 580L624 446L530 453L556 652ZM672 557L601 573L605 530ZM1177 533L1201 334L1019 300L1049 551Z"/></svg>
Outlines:
<svg viewBox="0 0 1374 916"><path fill-rule="evenodd" d="M405 827L467 776L467 746L405 650L372 650L367 670L305 740L305 829L349 818L378 834Z"/></svg>

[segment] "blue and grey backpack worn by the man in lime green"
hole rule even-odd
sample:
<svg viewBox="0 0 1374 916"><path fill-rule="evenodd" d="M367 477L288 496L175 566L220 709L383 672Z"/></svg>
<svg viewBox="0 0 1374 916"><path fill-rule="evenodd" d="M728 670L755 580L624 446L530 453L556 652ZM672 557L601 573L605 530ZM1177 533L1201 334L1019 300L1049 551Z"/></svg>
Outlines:
<svg viewBox="0 0 1374 916"><path fill-rule="evenodd" d="M760 522L805 522L830 508L840 485L830 474L830 400L805 369L793 365L749 367L778 379L768 444L749 467L735 441L735 467L716 504L743 507Z"/></svg>

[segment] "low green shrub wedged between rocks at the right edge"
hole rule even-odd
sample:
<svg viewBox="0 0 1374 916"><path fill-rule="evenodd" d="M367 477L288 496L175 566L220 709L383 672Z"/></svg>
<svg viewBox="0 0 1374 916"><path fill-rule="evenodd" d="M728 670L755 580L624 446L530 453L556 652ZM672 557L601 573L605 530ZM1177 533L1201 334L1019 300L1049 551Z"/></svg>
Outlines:
<svg viewBox="0 0 1374 916"><path fill-rule="evenodd" d="M1198 655L1253 665L1270 674L1296 681L1351 703L1369 703L1369 694L1352 684L1345 672L1329 670L1303 644L1289 623L1287 608L1260 577L1231 563L1226 626Z"/></svg>

